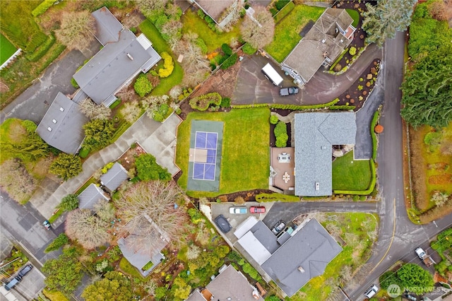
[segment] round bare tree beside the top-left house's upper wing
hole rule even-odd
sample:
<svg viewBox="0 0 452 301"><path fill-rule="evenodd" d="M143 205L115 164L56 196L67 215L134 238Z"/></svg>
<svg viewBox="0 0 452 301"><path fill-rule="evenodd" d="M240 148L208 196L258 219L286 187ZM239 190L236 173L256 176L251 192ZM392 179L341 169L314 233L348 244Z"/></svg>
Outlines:
<svg viewBox="0 0 452 301"><path fill-rule="evenodd" d="M56 30L58 40L69 49L83 49L94 40L95 20L89 11L64 12L61 28Z"/></svg>

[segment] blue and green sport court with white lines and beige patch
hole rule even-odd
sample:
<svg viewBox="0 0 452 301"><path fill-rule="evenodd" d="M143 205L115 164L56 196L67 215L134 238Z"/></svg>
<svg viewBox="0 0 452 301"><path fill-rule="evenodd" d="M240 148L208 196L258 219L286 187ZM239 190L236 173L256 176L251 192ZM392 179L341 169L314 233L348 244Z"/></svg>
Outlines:
<svg viewBox="0 0 452 301"><path fill-rule="evenodd" d="M222 122L191 122L187 189L218 191L222 150Z"/></svg>

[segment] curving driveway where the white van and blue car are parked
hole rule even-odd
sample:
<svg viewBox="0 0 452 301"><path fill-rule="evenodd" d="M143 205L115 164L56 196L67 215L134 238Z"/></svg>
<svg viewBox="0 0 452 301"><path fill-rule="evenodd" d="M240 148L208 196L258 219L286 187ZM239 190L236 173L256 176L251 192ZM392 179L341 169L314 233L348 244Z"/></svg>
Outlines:
<svg viewBox="0 0 452 301"><path fill-rule="evenodd" d="M237 75L237 83L232 96L233 105L249 105L256 103L281 103L291 105L318 105L337 98L355 83L362 72L374 59L381 59L382 51L372 44L361 54L359 59L345 73L338 76L324 73L319 69L313 78L300 89L297 95L280 96L279 87L275 87L263 76L261 69L267 63L283 77L282 87L293 86L293 78L284 72L272 60L254 54L246 56Z"/></svg>

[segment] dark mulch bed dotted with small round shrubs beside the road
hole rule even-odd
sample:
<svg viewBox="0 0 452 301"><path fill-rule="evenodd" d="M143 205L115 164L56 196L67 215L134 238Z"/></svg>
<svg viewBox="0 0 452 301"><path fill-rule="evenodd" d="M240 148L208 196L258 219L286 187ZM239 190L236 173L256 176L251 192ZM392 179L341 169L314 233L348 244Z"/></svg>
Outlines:
<svg viewBox="0 0 452 301"><path fill-rule="evenodd" d="M367 69L359 76L358 80L353 83L350 88L348 88L343 94L341 94L339 98L339 102L337 105L354 105L355 111L359 110L363 105L364 101L369 97L371 90L374 88L376 83L376 72L379 72L380 69L380 60L375 59ZM372 74L372 72L374 74ZM368 80L367 76L371 74L373 79ZM359 79L362 78L362 81ZM369 83L369 86L367 84ZM362 90L358 90L358 86L362 86ZM362 97L362 100L359 99L359 96Z"/></svg>

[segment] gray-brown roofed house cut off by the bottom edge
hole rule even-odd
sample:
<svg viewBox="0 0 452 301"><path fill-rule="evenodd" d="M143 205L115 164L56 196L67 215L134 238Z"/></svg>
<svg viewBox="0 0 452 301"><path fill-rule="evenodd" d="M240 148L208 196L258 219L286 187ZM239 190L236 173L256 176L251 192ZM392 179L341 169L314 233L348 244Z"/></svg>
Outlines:
<svg viewBox="0 0 452 301"><path fill-rule="evenodd" d="M222 266L220 273L206 288L198 288L189 295L186 301L210 300L259 300L263 301L258 290L234 266Z"/></svg>

